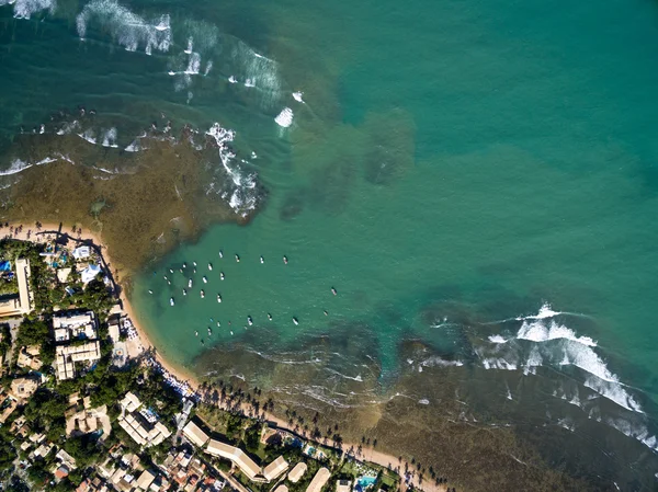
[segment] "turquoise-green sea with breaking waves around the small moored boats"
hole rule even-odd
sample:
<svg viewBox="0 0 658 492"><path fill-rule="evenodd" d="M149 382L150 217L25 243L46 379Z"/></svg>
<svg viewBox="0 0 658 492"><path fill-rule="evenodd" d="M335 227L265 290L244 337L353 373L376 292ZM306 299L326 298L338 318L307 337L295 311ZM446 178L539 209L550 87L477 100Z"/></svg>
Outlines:
<svg viewBox="0 0 658 492"><path fill-rule="evenodd" d="M599 490L654 490L656 2L39 1L0 7L5 170L20 125L83 104L117 151L160 112L219 122L224 165L268 190L248 226L145 266L133 296L162 354L436 415L449 377Z"/></svg>

